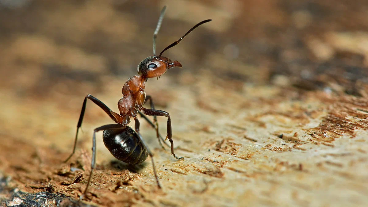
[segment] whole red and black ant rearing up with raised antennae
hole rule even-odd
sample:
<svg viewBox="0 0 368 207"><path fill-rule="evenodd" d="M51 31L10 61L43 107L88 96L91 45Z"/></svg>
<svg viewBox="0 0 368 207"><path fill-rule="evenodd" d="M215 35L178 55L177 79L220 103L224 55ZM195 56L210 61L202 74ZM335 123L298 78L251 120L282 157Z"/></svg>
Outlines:
<svg viewBox="0 0 368 207"><path fill-rule="evenodd" d="M187 36L190 32L192 32L195 28L199 27L206 22L212 20L204 20L196 24L192 27L187 33L185 33L178 41L173 42L171 45L167 46L162 50L159 56L156 56L156 38L161 27L162 19L166 10L166 6L164 6L161 10L161 14L153 33L153 56L147 57L139 63L137 71L139 76L130 77L127 82L123 86L122 94L123 97L118 101L118 108L120 110L120 114L113 112L109 107L107 107L102 101L88 94L84 98L84 102L82 105L81 115L79 116L78 124L77 124L77 133L75 134L74 147L73 152L70 156L64 161L67 162L75 152L75 146L77 144L77 137L79 128L82 125L82 120L84 117L84 112L86 109L87 99L91 100L93 103L98 105L101 109L103 109L110 118L116 122L116 124L107 124L100 127L97 127L93 130L92 136L92 160L91 160L91 173L88 177L88 182L86 188L84 190L84 195L87 192L88 186L91 182L92 172L95 168L96 161L96 132L103 130L103 143L105 147L109 149L110 153L120 161L123 161L127 164L139 164L146 160L148 155L151 157L153 173L155 174L156 182L159 188L161 188L159 179L157 177L155 163L153 161L153 154L151 150L149 150L147 144L145 143L141 133L139 133L139 120L137 115L139 114L143 117L155 130L156 135L159 140L160 145L163 147L161 140L164 142L169 139L171 143L171 154L176 159L184 159L183 157L178 158L174 153L174 142L172 140L171 134L171 118L169 113L163 110L155 109L153 105L152 97L146 95L145 82L148 78L159 78L162 74L164 74L167 70L172 67L182 67L181 63L178 61L172 62L167 57L163 57L162 53L167 49L172 48L177 45L185 36ZM144 108L143 105L149 101L151 109ZM145 115L153 116L153 122L151 122ZM165 140L159 134L157 116L167 117L167 136ZM135 122L135 131L128 126L131 121L131 117L134 118ZM164 142L165 143L165 142ZM165 143L166 144L166 143ZM169 146L168 144L166 144Z"/></svg>

